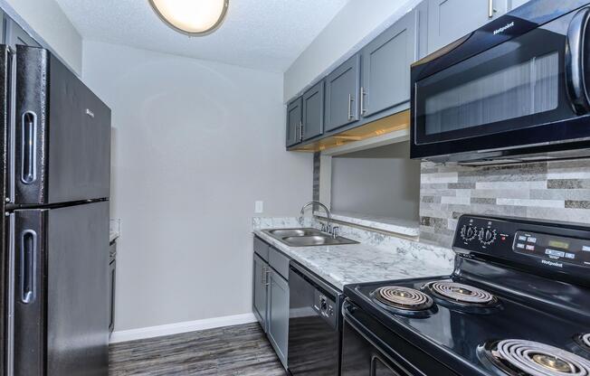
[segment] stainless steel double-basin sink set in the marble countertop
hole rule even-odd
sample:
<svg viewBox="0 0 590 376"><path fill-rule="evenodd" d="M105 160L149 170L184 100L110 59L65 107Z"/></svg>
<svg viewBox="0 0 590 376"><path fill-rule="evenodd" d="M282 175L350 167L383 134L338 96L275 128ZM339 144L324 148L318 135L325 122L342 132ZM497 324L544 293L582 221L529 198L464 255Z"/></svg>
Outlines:
<svg viewBox="0 0 590 376"><path fill-rule="evenodd" d="M281 229L262 231L290 247L334 246L338 244L358 243L358 241L342 238L341 236L334 238L332 235L316 229Z"/></svg>

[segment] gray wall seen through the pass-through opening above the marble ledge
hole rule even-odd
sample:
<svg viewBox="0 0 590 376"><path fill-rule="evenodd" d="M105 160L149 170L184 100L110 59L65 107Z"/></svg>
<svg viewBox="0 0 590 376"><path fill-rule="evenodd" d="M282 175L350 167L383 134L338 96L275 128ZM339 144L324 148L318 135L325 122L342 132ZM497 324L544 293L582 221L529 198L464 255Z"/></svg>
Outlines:
<svg viewBox="0 0 590 376"><path fill-rule="evenodd" d="M420 164L407 142L332 158L331 208L418 220Z"/></svg>

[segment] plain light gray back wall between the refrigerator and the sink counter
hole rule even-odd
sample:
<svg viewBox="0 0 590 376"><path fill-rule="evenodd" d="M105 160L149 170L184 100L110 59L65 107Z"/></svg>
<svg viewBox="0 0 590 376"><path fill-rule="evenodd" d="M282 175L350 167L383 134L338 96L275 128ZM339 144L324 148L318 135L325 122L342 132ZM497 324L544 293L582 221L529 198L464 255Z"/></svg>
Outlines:
<svg viewBox="0 0 590 376"><path fill-rule="evenodd" d="M284 150L281 74L84 42L112 109L116 330L252 312L254 201L296 215L312 156Z"/></svg>

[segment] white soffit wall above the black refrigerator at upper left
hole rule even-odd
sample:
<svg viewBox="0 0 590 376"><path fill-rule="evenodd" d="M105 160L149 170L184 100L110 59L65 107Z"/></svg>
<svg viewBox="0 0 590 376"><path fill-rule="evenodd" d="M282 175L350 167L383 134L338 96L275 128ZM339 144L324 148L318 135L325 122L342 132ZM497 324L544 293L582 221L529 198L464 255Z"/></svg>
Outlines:
<svg viewBox="0 0 590 376"><path fill-rule="evenodd" d="M0 7L72 71L81 74L81 35L54 0L0 0Z"/></svg>

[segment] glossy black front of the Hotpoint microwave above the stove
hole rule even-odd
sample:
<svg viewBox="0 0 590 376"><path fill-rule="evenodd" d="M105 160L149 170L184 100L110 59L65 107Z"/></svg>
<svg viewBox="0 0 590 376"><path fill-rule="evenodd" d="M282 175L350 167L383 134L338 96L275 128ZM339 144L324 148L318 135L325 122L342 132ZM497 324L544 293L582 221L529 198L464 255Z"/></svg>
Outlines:
<svg viewBox="0 0 590 376"><path fill-rule="evenodd" d="M502 19L515 33L524 22ZM587 121L578 121L590 112L589 19L590 8L582 8L471 55L467 38L413 67L412 157L590 136ZM482 33L472 37L483 43ZM488 40L496 38L487 33Z"/></svg>

